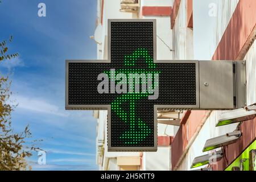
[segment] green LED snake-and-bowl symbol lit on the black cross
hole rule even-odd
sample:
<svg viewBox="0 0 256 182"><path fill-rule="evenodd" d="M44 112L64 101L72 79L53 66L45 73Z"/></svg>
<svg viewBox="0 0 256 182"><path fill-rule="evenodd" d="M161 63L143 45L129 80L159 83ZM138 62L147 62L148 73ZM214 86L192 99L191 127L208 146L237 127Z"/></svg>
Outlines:
<svg viewBox="0 0 256 182"><path fill-rule="evenodd" d="M147 69L131 69L131 67L135 66L135 61L138 59L144 59L146 61ZM155 71L156 64L145 48L138 48L136 51L131 53L131 55L125 55L124 62L125 68L116 70L115 74L125 73L126 76L129 77L129 73L145 73L146 75L148 73L160 73L159 71ZM106 73L110 74L109 71ZM154 86L156 86L155 84ZM146 93L126 93L117 97L111 103L111 109L115 114L121 118L123 122L129 122L129 130L122 133L119 137L119 139L123 140L125 144L138 144L138 142L144 140L152 133L152 130L147 123L143 122L141 118L137 118L135 114L136 101L142 98L147 98L149 95L148 90ZM128 113L121 108L121 105L125 103L129 103L130 106Z"/></svg>

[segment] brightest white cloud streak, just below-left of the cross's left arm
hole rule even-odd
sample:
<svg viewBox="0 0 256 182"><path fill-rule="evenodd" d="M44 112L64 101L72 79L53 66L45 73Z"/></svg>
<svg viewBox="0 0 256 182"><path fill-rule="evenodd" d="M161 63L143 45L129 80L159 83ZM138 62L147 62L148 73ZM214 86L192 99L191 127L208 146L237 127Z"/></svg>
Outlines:
<svg viewBox="0 0 256 182"><path fill-rule="evenodd" d="M39 98L17 96L16 101L18 102L18 109L26 109L46 114L54 114L61 117L67 117L69 115L65 111L60 110L58 106L49 104L48 102Z"/></svg>

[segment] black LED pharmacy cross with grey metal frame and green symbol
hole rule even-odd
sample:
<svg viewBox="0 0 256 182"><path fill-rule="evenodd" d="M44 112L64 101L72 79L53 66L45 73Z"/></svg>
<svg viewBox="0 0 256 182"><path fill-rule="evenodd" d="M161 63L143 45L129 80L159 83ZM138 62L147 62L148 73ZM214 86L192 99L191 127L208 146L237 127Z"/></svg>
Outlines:
<svg viewBox="0 0 256 182"><path fill-rule="evenodd" d="M155 20L110 19L108 60L66 61L65 107L108 110L108 151L156 151L157 109L199 108L198 72L156 60Z"/></svg>

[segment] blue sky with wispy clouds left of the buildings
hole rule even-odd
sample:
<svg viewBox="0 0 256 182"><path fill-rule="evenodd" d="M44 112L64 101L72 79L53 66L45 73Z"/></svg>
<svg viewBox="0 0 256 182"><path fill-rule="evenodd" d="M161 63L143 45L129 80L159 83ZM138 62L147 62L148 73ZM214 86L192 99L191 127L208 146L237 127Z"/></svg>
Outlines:
<svg viewBox="0 0 256 182"><path fill-rule="evenodd" d="M38 4L46 3L46 17ZM15 131L29 124L47 165L30 163L34 170L93 170L96 166L96 119L92 111L66 111L65 59L97 59L96 44L89 38L96 22L95 0L2 0L0 40L14 40L10 52L19 58L0 63L9 75Z"/></svg>

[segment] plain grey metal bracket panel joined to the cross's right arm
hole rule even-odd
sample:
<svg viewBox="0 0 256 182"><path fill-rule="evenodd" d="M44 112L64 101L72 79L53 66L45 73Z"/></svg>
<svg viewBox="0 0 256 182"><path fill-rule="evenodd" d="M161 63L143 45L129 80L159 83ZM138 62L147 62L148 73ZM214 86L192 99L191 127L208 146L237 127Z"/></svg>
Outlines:
<svg viewBox="0 0 256 182"><path fill-rule="evenodd" d="M233 61L200 61L200 109L234 109Z"/></svg>

